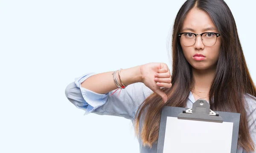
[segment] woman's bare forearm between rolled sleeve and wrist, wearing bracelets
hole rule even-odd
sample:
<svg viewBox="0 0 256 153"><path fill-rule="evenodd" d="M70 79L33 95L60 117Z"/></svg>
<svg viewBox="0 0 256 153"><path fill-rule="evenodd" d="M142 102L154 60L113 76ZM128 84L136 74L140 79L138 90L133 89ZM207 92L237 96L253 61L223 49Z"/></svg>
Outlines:
<svg viewBox="0 0 256 153"><path fill-rule="evenodd" d="M114 71L92 75L81 83L81 87L99 94L105 94L114 89L117 89L118 87L116 86L112 75L113 72ZM122 69L120 72L120 78L125 86L141 82L142 76L140 72L140 66Z"/></svg>

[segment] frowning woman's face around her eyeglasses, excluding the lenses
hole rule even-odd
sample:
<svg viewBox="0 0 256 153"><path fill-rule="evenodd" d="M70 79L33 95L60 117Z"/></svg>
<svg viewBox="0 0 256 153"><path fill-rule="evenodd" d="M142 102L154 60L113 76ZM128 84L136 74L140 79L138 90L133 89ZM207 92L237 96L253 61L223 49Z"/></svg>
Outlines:
<svg viewBox="0 0 256 153"><path fill-rule="evenodd" d="M219 33L218 29L213 24L209 15L199 9L192 9L187 14L181 32L191 32L195 34L201 34L203 32L215 32ZM193 37L191 34L187 34L187 37ZM205 34L203 38L204 42L208 41L211 34ZM221 37L217 37L216 43L213 46L206 46L202 41L201 35L196 37L195 44L192 46L185 46L180 38L180 44L185 55L186 60L195 69L212 69L215 68L219 53L221 50ZM206 43L205 43L206 44ZM201 54L201 55L196 55ZM201 57L200 57L201 56Z"/></svg>

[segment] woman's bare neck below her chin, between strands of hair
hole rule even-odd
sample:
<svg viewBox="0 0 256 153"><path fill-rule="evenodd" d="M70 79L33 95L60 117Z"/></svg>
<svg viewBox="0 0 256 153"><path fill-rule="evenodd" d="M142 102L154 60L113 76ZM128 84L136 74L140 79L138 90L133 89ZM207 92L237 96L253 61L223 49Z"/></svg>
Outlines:
<svg viewBox="0 0 256 153"><path fill-rule="evenodd" d="M192 68L192 74L195 81L194 89L200 92L209 92L213 77L215 75L215 70L215 68L203 70Z"/></svg>

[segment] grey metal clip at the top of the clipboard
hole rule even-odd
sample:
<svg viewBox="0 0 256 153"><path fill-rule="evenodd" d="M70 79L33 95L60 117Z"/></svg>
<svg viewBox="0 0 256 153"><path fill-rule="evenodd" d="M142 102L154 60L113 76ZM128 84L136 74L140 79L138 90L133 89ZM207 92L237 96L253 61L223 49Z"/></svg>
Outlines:
<svg viewBox="0 0 256 153"><path fill-rule="evenodd" d="M183 113L178 115L178 119L223 122L223 118L218 113L210 110L210 104L205 99L195 101L192 109L183 110Z"/></svg>

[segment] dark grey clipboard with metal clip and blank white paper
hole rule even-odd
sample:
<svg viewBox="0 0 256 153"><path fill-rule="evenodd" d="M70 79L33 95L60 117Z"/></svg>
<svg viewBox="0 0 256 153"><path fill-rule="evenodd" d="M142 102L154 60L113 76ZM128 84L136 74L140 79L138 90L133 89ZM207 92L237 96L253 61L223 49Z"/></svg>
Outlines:
<svg viewBox="0 0 256 153"><path fill-rule="evenodd" d="M240 113L214 112L205 99L163 107L157 153L236 153L239 122Z"/></svg>

